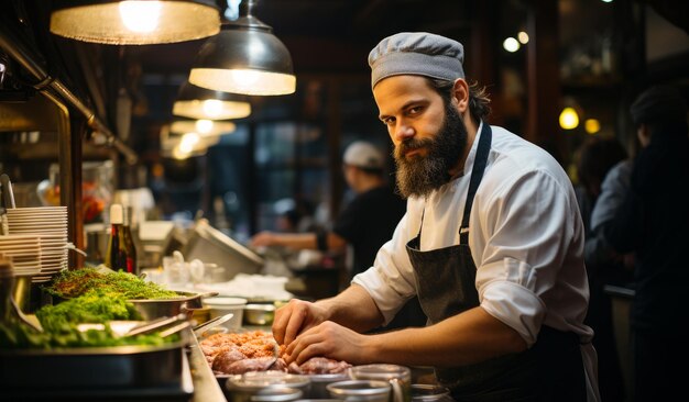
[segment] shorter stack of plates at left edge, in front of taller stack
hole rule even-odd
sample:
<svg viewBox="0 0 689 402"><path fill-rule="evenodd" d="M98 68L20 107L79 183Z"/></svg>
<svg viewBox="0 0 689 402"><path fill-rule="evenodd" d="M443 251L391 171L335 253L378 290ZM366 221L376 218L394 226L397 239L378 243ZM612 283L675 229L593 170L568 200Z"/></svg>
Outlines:
<svg viewBox="0 0 689 402"><path fill-rule="evenodd" d="M39 236L0 236L0 256L12 261L17 276L41 275L41 237Z"/></svg>

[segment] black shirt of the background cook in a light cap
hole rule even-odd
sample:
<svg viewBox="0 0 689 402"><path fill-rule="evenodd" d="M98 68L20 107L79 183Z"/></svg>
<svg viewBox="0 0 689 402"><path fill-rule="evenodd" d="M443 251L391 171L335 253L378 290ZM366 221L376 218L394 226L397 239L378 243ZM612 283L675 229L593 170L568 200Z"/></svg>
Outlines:
<svg viewBox="0 0 689 402"><path fill-rule="evenodd" d="M335 232L352 245L351 277L373 265L379 248L392 234L406 211L406 201L387 186L358 194L335 222Z"/></svg>

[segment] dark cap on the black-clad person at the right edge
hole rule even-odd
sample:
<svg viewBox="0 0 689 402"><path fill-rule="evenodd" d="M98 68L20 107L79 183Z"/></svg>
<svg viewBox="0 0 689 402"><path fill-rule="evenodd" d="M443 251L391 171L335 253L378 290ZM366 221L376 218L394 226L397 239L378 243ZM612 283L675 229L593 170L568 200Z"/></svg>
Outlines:
<svg viewBox="0 0 689 402"><path fill-rule="evenodd" d="M661 120L686 121L687 101L678 89L654 86L642 92L630 108L635 124Z"/></svg>

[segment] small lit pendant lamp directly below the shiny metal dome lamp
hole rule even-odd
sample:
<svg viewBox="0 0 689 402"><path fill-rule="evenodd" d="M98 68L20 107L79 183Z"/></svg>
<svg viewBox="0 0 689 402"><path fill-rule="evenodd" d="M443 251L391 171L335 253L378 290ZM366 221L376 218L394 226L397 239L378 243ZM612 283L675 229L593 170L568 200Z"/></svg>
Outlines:
<svg viewBox="0 0 689 402"><path fill-rule="evenodd" d="M242 119L251 114L251 103L249 97L200 88L186 81L179 87L173 114L188 119Z"/></svg>

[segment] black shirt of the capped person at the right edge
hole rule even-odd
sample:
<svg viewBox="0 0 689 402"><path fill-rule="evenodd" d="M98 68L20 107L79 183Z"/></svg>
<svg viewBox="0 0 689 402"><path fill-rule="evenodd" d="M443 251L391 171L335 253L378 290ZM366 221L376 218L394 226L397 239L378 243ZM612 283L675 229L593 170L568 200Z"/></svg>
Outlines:
<svg viewBox="0 0 689 402"><path fill-rule="evenodd" d="M689 320L689 139L685 133L654 135L641 152L630 191L605 233L617 252L636 252L632 325L637 328L675 331Z"/></svg>

